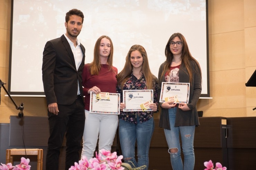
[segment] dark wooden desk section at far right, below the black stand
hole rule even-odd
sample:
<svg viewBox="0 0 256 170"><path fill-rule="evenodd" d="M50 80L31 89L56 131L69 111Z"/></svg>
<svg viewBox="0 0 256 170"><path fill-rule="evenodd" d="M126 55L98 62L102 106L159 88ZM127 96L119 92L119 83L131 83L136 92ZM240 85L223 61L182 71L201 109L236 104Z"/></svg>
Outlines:
<svg viewBox="0 0 256 170"><path fill-rule="evenodd" d="M229 169L255 170L256 117L227 118Z"/></svg>

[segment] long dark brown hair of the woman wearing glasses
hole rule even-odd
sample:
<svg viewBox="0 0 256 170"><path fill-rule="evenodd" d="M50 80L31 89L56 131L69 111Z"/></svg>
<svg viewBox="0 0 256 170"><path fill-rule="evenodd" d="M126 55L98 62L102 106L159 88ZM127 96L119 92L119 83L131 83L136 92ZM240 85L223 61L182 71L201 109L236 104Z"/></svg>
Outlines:
<svg viewBox="0 0 256 170"><path fill-rule="evenodd" d="M178 37L182 41L182 46L183 47L182 47L182 54L181 54L181 64L184 64L186 69L188 70L189 82L192 83L192 81L193 81L192 71L195 70L195 72L198 72L198 73L200 73L200 75L202 75L201 68L199 66L198 61L196 61L194 59L194 57L191 55L191 53L189 51L188 44L186 42L186 39L185 39L185 37L181 33L174 33L174 34L172 34L171 37L169 38L166 46L165 46L166 64L164 65L164 71L161 74L161 78L165 75L166 71L169 70L169 67L170 67L170 65L172 63L173 53L170 50L170 43L171 43L171 41L175 37ZM190 64L190 61L194 61L199 66L199 70L198 69L193 69L192 65Z"/></svg>

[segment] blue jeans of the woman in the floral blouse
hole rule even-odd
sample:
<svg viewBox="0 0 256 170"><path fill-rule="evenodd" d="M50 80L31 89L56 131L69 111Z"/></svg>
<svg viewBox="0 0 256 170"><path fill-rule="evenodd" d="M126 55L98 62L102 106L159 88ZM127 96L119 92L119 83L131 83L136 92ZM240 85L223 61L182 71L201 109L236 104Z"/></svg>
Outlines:
<svg viewBox="0 0 256 170"><path fill-rule="evenodd" d="M138 121L139 122L139 121ZM148 169L149 145L154 131L154 118L143 123L133 124L119 119L119 139L124 161L132 168L146 165ZM135 141L137 142L138 162L135 160Z"/></svg>

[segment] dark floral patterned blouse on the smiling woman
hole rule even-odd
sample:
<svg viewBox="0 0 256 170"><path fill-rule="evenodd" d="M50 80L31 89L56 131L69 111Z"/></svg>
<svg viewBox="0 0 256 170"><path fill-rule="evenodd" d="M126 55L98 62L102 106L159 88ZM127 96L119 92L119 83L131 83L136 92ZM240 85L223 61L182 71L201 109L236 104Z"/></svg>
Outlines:
<svg viewBox="0 0 256 170"><path fill-rule="evenodd" d="M144 75L141 75L139 79L137 79L136 76L134 76L132 73L126 83L124 84L123 90L146 90L146 79ZM153 89L153 100L154 103L157 106L157 111L158 112L158 101L157 101L157 78L155 77L154 81L154 89ZM123 102L123 93L121 90L120 85L117 85L117 93L120 93L120 103ZM153 116L153 111L120 111L119 118L122 120L128 121L130 123L137 124L137 116L139 116L139 122L145 122L152 118Z"/></svg>

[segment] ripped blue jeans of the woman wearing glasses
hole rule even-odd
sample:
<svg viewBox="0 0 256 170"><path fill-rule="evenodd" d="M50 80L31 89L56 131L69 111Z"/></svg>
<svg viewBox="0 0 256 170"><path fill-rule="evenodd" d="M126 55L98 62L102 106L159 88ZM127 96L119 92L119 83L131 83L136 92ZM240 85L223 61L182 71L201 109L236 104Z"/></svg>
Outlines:
<svg viewBox="0 0 256 170"><path fill-rule="evenodd" d="M168 152L171 156L173 170L193 170L195 164L194 154L194 134L195 126L174 127L177 108L168 109L171 130L164 129L165 138L168 144ZM184 155L184 167L181 160L180 137L182 141L182 151Z"/></svg>

